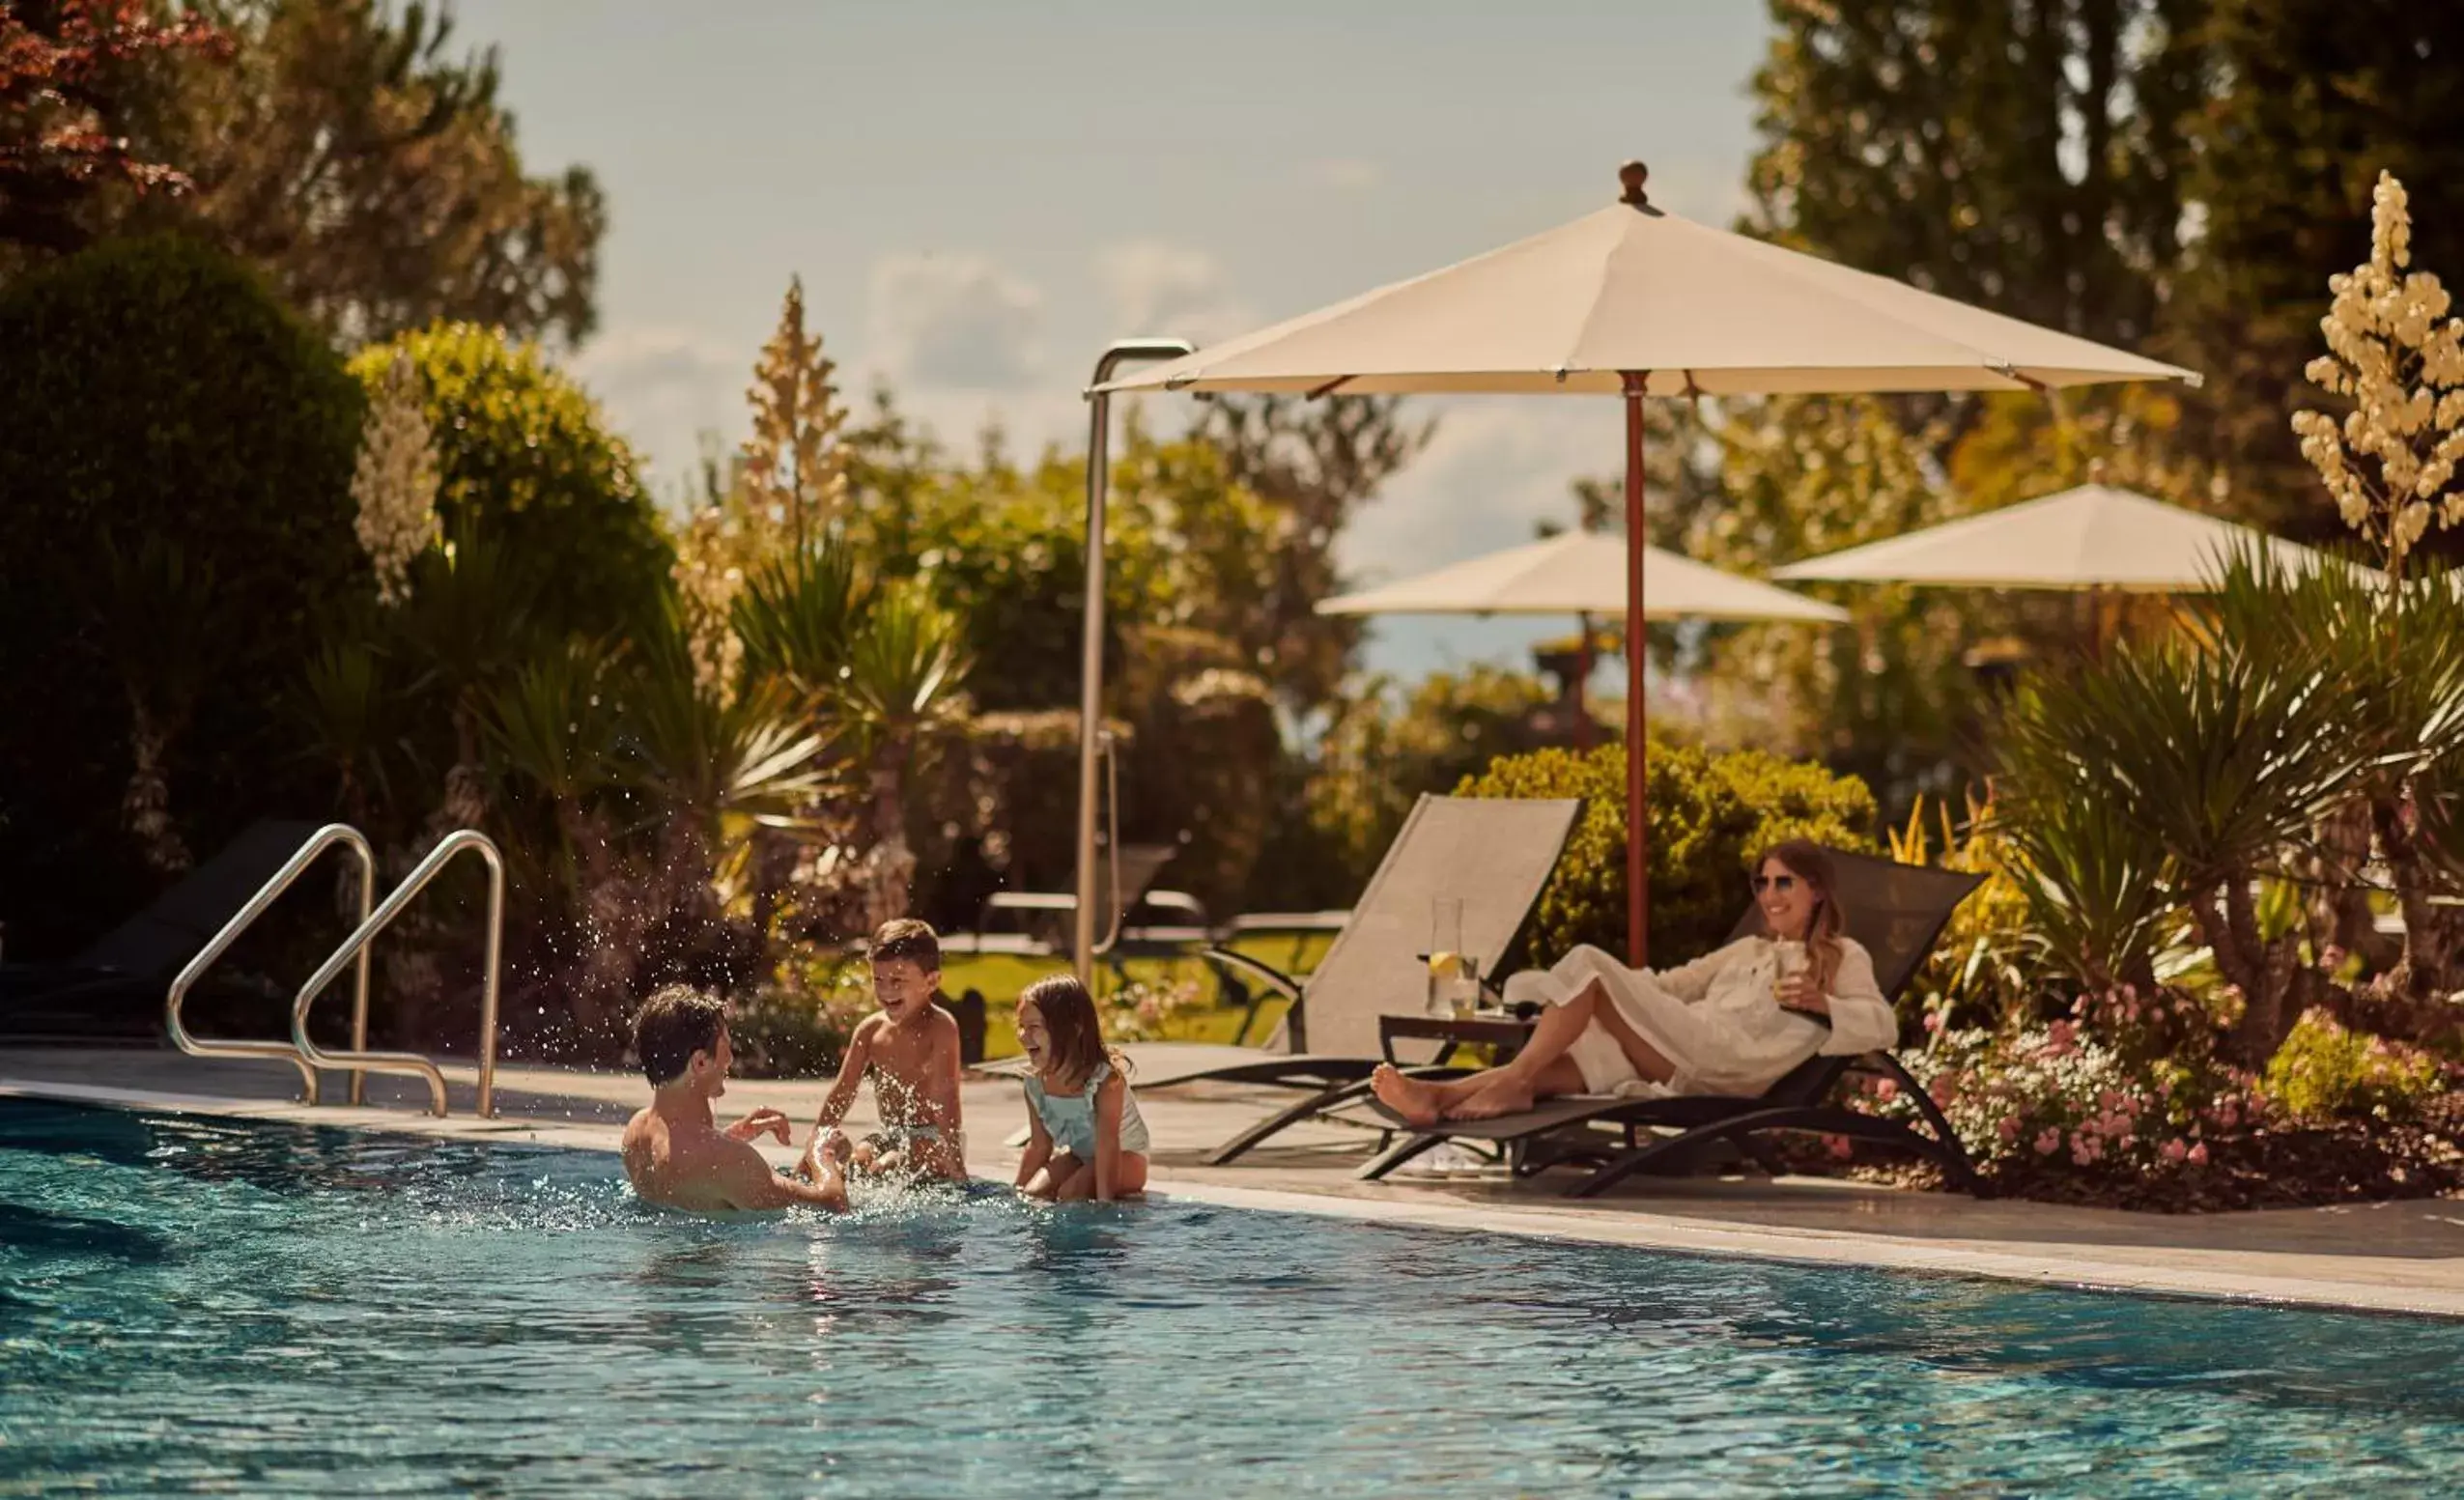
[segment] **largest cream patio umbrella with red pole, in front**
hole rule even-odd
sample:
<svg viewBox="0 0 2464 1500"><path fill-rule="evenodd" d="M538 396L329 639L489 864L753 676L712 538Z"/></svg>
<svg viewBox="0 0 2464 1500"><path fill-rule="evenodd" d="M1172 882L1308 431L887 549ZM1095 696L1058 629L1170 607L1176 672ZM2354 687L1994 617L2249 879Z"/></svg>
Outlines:
<svg viewBox="0 0 2464 1500"><path fill-rule="evenodd" d="M1114 392L1599 394L1626 401L1626 616L1643 579L1643 397L1789 392L2023 392L2193 379L2089 340L1969 308L1651 204L1641 163L1611 207L1289 323L1092 387ZM1094 466L1099 468L1099 466ZM1101 512L1089 473L1089 520ZM1089 549L1101 547L1089 527ZM1089 640L1099 591L1089 584ZM1626 670L1643 633L1626 631ZM1089 687L1094 682L1089 680ZM1089 692L1089 702L1092 702ZM1092 840L1094 736L1082 727L1079 840ZM1643 695L1626 695L1629 948L1646 958ZM1084 869L1082 860L1082 869ZM1084 874L1082 874L1084 879ZM1089 901L1082 899L1082 909Z"/></svg>

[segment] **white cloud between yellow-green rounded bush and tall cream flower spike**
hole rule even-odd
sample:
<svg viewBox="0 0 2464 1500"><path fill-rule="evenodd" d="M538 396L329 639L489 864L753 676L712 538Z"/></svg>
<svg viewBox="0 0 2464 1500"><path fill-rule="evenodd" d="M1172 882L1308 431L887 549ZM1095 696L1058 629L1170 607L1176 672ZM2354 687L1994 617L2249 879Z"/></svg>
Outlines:
<svg viewBox="0 0 2464 1500"><path fill-rule="evenodd" d="M606 409L609 426L641 453L650 490L673 500L700 458L702 433L737 441L754 350L692 328L611 328L569 369Z"/></svg>

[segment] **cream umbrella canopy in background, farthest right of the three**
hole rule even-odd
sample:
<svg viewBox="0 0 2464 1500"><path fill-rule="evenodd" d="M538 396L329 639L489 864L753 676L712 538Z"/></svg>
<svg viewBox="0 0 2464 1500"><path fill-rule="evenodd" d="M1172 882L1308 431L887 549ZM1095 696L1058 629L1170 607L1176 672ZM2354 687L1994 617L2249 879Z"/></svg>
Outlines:
<svg viewBox="0 0 2464 1500"><path fill-rule="evenodd" d="M2080 485L1887 542L1794 562L1774 576L1947 589L2205 594L2223 576L2225 559L2245 549L2267 552L2284 571L2309 571L2331 562L2309 547L2166 505L2136 490Z"/></svg>

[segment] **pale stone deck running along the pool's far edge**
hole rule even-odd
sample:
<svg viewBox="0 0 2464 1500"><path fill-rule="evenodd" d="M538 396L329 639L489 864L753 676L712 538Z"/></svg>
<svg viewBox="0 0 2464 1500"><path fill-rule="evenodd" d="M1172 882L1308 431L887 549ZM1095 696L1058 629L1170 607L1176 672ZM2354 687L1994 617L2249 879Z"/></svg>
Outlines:
<svg viewBox="0 0 2464 1500"><path fill-rule="evenodd" d="M453 1113L436 1121L421 1113L424 1086L402 1076L372 1074L370 1108L310 1108L296 1103L298 1074L278 1062L143 1049L0 1049L0 1099L185 1108L584 1150L614 1150L626 1116L648 1096L633 1074L508 1067L498 1071L498 1118L480 1121L471 1116L476 1069L446 1074ZM328 1074L328 1099L342 1099L345 1089L340 1074ZM823 1089L825 1081L811 1079L742 1079L729 1086L727 1106L766 1103L811 1121ZM2459 1200L2176 1217L1974 1202L1814 1177L1703 1177L1646 1180L1577 1204L1557 1197L1562 1177L1360 1182L1353 1170L1372 1138L1338 1126L1289 1131L1232 1167L1202 1165L1210 1145L1286 1099L1222 1084L1141 1091L1156 1138L1153 1190L1232 1207L1432 1229L2464 1318ZM1023 1108L1015 1084L968 1079L968 1165L978 1175L1010 1175L1018 1153L1003 1138L1025 1121ZM870 1091L848 1123L870 1123ZM786 1150L771 1155L781 1163L791 1158Z"/></svg>

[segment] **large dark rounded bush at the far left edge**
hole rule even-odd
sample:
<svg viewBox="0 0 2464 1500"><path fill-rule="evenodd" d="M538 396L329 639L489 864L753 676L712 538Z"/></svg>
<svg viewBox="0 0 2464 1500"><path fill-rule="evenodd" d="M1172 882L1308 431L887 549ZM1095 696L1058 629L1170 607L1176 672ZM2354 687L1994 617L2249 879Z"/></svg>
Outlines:
<svg viewBox="0 0 2464 1500"><path fill-rule="evenodd" d="M74 951L150 877L118 833L128 685L108 650L103 542L177 549L190 702L170 815L209 857L296 776L281 687L365 591L350 470L362 397L342 360L229 256L138 239L0 293L0 919L10 956ZM126 633L126 631L123 631ZM126 655L126 653L123 653ZM172 670L172 655L140 660ZM293 810L315 803L291 798Z"/></svg>

